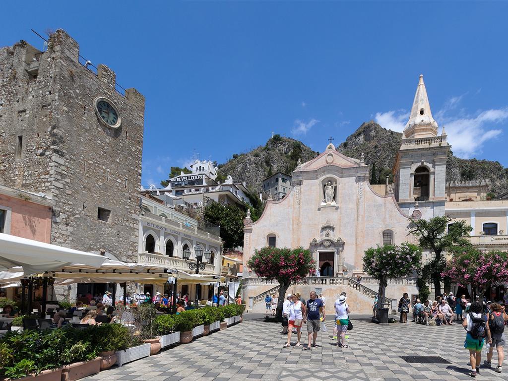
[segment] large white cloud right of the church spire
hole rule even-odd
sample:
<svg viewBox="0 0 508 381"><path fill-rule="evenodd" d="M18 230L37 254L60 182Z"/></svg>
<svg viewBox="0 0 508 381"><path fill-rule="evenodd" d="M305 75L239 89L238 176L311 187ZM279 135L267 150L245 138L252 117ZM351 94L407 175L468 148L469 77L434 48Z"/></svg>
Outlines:
<svg viewBox="0 0 508 381"><path fill-rule="evenodd" d="M476 117L454 118L443 115L441 122L448 134L448 142L452 145L455 155L471 158L481 152L483 144L499 136L501 129L493 129L508 119L508 107L480 112Z"/></svg>

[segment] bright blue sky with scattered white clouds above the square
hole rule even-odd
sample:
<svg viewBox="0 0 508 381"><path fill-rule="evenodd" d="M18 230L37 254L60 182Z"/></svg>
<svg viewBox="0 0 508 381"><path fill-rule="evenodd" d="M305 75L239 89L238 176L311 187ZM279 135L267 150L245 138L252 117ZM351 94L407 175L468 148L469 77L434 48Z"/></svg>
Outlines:
<svg viewBox="0 0 508 381"><path fill-rule="evenodd" d="M370 119L400 130L419 74L452 150L508 166L506 2L42 4L3 4L0 46L64 28L141 91L144 185L272 131L322 151Z"/></svg>

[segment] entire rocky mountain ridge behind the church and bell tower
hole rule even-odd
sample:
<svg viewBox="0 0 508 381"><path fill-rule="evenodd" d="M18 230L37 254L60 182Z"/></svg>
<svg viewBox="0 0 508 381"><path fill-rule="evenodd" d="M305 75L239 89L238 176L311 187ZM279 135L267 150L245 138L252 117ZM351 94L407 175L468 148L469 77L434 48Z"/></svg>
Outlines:
<svg viewBox="0 0 508 381"><path fill-rule="evenodd" d="M358 159L363 152L365 163L370 165L371 183L384 183L386 176L390 176L392 181L392 168L401 137L401 133L384 129L371 120L348 136L337 150ZM219 174L224 178L231 175L235 181L245 181L252 191L258 193L263 179L269 174L277 171L291 173L296 168L299 157L305 163L318 153L298 140L274 135L264 146L233 155L227 163L219 165ZM508 168L499 162L466 160L450 153L447 181L478 179L490 180L490 190L494 194L508 190Z"/></svg>

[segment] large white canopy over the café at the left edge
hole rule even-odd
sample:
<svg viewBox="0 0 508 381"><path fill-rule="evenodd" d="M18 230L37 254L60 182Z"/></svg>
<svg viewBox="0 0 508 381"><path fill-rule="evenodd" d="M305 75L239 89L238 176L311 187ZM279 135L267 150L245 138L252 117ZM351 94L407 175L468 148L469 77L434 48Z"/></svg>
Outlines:
<svg viewBox="0 0 508 381"><path fill-rule="evenodd" d="M25 274L55 270L71 263L99 268L106 257L0 233L0 271L21 266Z"/></svg>

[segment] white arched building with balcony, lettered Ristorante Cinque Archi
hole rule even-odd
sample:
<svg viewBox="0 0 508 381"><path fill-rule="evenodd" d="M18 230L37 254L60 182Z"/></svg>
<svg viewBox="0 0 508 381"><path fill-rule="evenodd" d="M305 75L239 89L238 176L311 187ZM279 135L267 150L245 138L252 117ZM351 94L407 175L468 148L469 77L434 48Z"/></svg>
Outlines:
<svg viewBox="0 0 508 381"><path fill-rule="evenodd" d="M164 198L152 195L141 196L141 215L139 219L138 263L144 265L164 266L170 270L194 273L183 259L183 251L190 250L189 262L196 261L195 247L210 250L211 256L200 274L218 277L222 270L222 241L218 227L203 226L198 221L180 213L168 205ZM204 257L203 257L204 260ZM191 300L196 298L196 285L177 284L181 295L189 294ZM154 295L155 292L170 294L168 289L157 289L156 285L145 284L144 292ZM212 297L213 286L201 286L200 300Z"/></svg>

